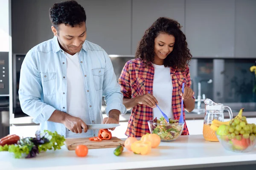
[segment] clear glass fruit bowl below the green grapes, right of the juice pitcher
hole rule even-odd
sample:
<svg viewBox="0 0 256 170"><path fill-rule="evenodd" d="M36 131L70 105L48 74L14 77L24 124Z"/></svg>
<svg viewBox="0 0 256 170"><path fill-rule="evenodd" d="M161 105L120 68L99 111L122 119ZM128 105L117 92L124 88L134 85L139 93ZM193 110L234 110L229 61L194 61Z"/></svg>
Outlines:
<svg viewBox="0 0 256 170"><path fill-rule="evenodd" d="M250 152L253 150L255 144L256 144L256 138L255 136L244 138L242 135L237 135L233 139L230 138L228 135L217 135L217 138L221 145L226 149L233 152Z"/></svg>

